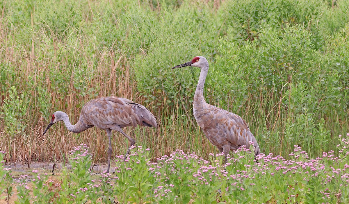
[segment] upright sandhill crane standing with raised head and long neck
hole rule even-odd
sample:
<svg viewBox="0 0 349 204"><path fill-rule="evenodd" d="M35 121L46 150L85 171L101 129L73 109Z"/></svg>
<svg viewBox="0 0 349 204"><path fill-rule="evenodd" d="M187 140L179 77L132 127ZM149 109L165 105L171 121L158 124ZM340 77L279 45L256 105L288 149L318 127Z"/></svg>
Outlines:
<svg viewBox="0 0 349 204"><path fill-rule="evenodd" d="M260 153L259 146L244 119L234 113L206 103L205 98L203 98L203 86L209 67L206 58L196 56L192 61L177 65L176 67L172 67L172 69L187 66L199 67L201 69L199 82L196 86L193 108L195 120L202 128L207 139L220 152L224 153L226 163L230 150L237 150L243 145L246 145L246 148L250 148L250 142L253 142L254 153L257 156Z"/></svg>

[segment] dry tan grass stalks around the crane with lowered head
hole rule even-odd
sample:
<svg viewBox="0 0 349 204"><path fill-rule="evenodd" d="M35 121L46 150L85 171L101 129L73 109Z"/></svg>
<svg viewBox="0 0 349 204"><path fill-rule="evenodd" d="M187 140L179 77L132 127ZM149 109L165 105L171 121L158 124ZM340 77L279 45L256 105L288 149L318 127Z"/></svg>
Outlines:
<svg viewBox="0 0 349 204"><path fill-rule="evenodd" d="M50 50L49 45L45 45L45 35L44 28L35 32L32 36L33 42L30 47L22 47L21 53L18 52L14 47L22 46L19 43L13 41L12 43L7 43L10 41L8 36L11 36L16 29L9 30L5 25L0 25L0 44L3 49L3 59L7 62L12 63L15 66L16 78L18 79L20 92L27 92L30 95L29 103L30 108L27 114L23 117L25 125L25 135L15 134L10 135L5 127L3 121L0 121L0 149L6 152L7 161L12 163L25 163L30 167L32 161L60 161L61 155L67 153L73 146L80 143L86 143L92 149L92 153L95 155L94 160L97 162L103 162L106 160L106 149L107 149L107 139L106 133L103 130L97 128L91 128L78 135L69 133L65 129L63 123L55 124L44 136L42 136L42 131L46 127L48 121L43 118L40 112L39 102L36 100L39 93L36 90L28 90L30 87L26 85L28 77L32 76L35 86L40 85L43 81L46 82L45 88L47 93L45 97L50 101L51 108L48 110L49 113L54 111L64 111L70 116L72 123L78 120L79 113L81 111L81 105L86 103L88 100L94 98L89 95L81 97L79 92L74 88L74 70L72 71L72 78L66 83L69 84L68 94L64 98L60 98L61 93L55 92L52 89L52 82L49 78L48 73L51 69L58 69L61 71L71 71L69 70L70 64L67 61L68 56L60 57L59 55L64 52L59 52L58 50L63 50L66 52L76 52L76 60L78 58L86 61L88 67L93 71L93 77L87 80L86 89L92 89L99 87L98 96L118 96L125 97L135 101L136 103L144 104L144 99L139 96L136 91L137 82L133 80L133 73L130 71L130 66L128 59L125 54L120 51L114 51L113 46L102 47L95 51L96 59L90 59L86 56L86 41L89 40L87 36L78 37L75 42L75 47L69 47L60 40L60 36L55 36L52 34L52 40L55 44L54 52ZM79 36L79 34L75 33ZM4 47L4 44L7 47ZM39 44L39 45L37 45ZM46 47L47 50L38 50L37 47ZM31 52L29 52L31 50ZM38 59L38 56L47 55L44 59ZM61 60L59 60L61 59ZM98 66L95 68L93 65L93 60L99 59ZM81 62L80 62L81 63ZM53 66L53 67L51 67ZM64 70L66 69L66 70ZM108 76L108 77L106 77ZM44 78L43 78L44 77ZM8 84L10 86L11 84ZM5 96L1 96L0 103L3 102ZM159 99L161 100L161 99ZM163 97L165 103L165 97ZM54 108L53 108L54 107ZM163 115L158 113L163 113L165 105L160 107L160 109L152 109L152 103L147 106L159 119L164 118ZM176 107L181 108L181 107ZM164 121L161 121L164 122ZM163 124L163 123L161 123ZM144 143L149 143L149 147L155 151L156 156L161 156L163 153L169 154L172 150L183 149L186 141L190 141L192 135L190 132L183 131L183 137L181 138L168 138L170 135L174 135L178 129L187 129L192 123L183 124L183 127L175 127L175 120L172 121L172 127L162 127L160 124L159 129L136 129L125 128L126 134L136 138L136 144L140 145L141 141ZM179 140L178 140L179 139ZM114 146L114 154L124 154L126 151L126 146L128 141L124 136L114 133L112 143ZM205 148L212 150L206 140L203 141Z"/></svg>

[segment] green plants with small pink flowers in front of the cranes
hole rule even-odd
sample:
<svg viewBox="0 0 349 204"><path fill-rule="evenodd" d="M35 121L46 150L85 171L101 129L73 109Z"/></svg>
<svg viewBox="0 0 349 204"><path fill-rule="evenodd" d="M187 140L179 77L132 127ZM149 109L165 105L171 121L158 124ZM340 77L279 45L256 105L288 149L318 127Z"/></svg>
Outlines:
<svg viewBox="0 0 349 204"><path fill-rule="evenodd" d="M103 172L94 180L87 179L92 176L86 169L89 148L80 145L70 151L74 167L64 168L56 184L38 170L33 171L32 187L26 183L28 175L21 176L15 203L347 203L349 133L333 142L339 153L323 152L316 159L309 159L298 145L289 159L272 153L255 157L253 146L242 146L231 151L225 164L223 153L210 153L205 160L181 150L151 163L150 149L132 146L126 160L117 156L114 177Z"/></svg>

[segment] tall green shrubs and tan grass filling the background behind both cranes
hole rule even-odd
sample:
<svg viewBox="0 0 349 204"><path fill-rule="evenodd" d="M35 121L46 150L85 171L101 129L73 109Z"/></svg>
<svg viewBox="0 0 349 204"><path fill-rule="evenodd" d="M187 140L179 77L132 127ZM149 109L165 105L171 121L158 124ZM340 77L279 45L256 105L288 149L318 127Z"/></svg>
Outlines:
<svg viewBox="0 0 349 204"><path fill-rule="evenodd" d="M312 158L349 132L348 0L4 0L0 2L0 150L7 161L55 161L86 143L105 161L107 137L91 128L46 135L54 111L72 123L99 96L145 105L159 128L125 128L151 157L218 150L196 124L197 68L206 101L246 120L261 152ZM127 139L113 134L113 154Z"/></svg>

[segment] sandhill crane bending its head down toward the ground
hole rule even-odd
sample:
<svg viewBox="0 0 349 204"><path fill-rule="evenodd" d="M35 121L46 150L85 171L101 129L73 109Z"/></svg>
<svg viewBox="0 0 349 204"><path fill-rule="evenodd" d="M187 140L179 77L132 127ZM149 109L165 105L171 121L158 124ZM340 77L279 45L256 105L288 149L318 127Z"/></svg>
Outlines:
<svg viewBox="0 0 349 204"><path fill-rule="evenodd" d="M46 131L56 122L63 121L69 131L73 133L80 133L91 127L96 126L97 128L103 129L107 132L109 138L109 149L108 149L108 168L110 168L110 158L112 153L111 147L111 131L116 130L124 135L134 145L135 141L130 136L126 135L121 128L126 126L136 125L157 127L156 119L150 111L137 103L126 98L119 97L101 97L88 101L83 107L80 113L79 121L75 125L72 125L69 121L68 115L61 111L56 111L52 115L50 124L45 129ZM130 152L128 148L127 154Z"/></svg>

